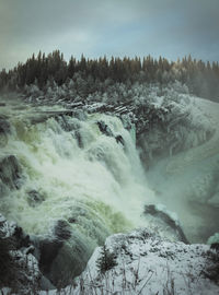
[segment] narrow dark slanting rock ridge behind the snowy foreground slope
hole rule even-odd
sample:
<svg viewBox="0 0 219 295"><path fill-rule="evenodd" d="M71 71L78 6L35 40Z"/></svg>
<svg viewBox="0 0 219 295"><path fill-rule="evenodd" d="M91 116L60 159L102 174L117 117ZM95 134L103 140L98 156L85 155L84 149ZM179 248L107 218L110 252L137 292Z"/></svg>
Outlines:
<svg viewBox="0 0 219 295"><path fill-rule="evenodd" d="M171 216L169 214L166 214L165 212L160 211L155 208L155 205L150 204L150 205L145 206L143 213L146 215L154 216L155 220L158 220L158 221L159 220L162 221L162 223L164 223L165 226L169 226L170 228L172 228L174 231L178 240L181 240L185 244L189 244L185 234L183 233L183 229L181 228L181 226L173 219L171 219Z"/></svg>

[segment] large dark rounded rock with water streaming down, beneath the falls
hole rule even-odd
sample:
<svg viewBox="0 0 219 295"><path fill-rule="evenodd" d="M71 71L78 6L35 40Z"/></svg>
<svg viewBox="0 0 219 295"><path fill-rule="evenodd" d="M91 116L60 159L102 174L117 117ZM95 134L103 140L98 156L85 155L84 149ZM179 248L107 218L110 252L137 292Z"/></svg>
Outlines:
<svg viewBox="0 0 219 295"><path fill-rule="evenodd" d="M91 252L88 252L89 245L72 232L69 222L58 220L51 233L50 236L32 237L34 255L44 279L53 286L65 287L85 268Z"/></svg>

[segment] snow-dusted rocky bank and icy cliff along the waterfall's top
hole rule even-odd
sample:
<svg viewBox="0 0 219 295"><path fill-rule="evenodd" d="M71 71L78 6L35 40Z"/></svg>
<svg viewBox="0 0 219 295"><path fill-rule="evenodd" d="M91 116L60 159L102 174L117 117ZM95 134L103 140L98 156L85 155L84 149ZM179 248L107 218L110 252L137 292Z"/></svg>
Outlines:
<svg viewBox="0 0 219 295"><path fill-rule="evenodd" d="M146 167L157 156L176 154L206 142L215 131L208 116L196 103L197 99L177 81L162 91L155 84L136 84L130 90L117 84L114 93L110 94L106 87L105 92L99 94L99 98L92 93L85 99L77 96L59 99L62 96L57 88L57 85L53 88L54 102L68 109L89 114L104 113L120 118L125 123L129 118L136 126L137 145L141 150L142 162L147 163ZM36 96L38 91L35 91ZM126 97L126 92L129 93L129 99L123 98ZM26 92L26 95L28 96L30 92ZM119 99L115 98L117 95ZM112 96L112 99L105 99L105 96ZM46 94L43 101L35 98L33 102L39 105L50 104Z"/></svg>

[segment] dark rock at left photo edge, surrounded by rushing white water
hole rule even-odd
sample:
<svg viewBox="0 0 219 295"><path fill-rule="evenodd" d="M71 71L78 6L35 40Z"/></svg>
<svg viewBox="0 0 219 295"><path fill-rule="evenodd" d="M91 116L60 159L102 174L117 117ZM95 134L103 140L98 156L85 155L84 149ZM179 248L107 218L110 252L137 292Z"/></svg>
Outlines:
<svg viewBox="0 0 219 295"><path fill-rule="evenodd" d="M9 155L0 158L0 180L10 189L21 187L22 169L18 158Z"/></svg>

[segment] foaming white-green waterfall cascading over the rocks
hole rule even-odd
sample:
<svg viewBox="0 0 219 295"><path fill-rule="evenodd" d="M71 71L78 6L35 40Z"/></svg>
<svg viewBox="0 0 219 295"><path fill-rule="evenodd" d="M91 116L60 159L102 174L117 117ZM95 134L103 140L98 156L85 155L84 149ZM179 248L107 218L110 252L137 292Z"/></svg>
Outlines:
<svg viewBox="0 0 219 295"><path fill-rule="evenodd" d="M56 263L73 276L106 236L143 224L143 203L153 193L143 185L131 132L118 118L79 120L56 110L4 107L0 211L32 237L65 240ZM55 269L44 269L54 272L53 283Z"/></svg>

